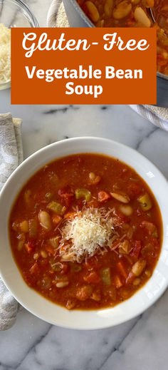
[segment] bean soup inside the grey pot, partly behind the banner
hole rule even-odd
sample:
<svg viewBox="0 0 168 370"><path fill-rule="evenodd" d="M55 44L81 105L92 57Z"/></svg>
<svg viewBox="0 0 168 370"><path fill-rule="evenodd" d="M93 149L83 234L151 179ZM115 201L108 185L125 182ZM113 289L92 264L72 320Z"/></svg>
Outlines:
<svg viewBox="0 0 168 370"><path fill-rule="evenodd" d="M97 27L155 27L157 71L168 76L167 0L77 0L77 2ZM153 17L149 9L152 9Z"/></svg>

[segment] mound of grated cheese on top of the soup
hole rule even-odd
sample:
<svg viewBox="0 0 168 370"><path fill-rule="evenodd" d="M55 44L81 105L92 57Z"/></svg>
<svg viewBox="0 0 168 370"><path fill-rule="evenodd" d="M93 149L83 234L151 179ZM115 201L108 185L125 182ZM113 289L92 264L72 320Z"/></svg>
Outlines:
<svg viewBox="0 0 168 370"><path fill-rule="evenodd" d="M61 232L59 246L64 260L82 262L84 258L107 252L108 243L117 237L110 210L85 208L73 220L67 220Z"/></svg>

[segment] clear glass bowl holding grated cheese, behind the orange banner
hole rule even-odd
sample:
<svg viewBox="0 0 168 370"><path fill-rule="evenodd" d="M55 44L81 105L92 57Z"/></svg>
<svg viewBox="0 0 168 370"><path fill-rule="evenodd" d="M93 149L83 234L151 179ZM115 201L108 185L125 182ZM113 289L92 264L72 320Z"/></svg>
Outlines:
<svg viewBox="0 0 168 370"><path fill-rule="evenodd" d="M31 9L21 0L0 0L0 24L11 27L39 27ZM11 81L0 83L0 90L10 88Z"/></svg>

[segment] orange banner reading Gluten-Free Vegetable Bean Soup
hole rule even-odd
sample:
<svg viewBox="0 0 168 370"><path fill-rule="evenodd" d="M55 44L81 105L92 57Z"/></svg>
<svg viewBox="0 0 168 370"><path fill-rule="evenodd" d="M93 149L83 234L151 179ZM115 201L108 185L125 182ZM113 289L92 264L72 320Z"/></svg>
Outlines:
<svg viewBox="0 0 168 370"><path fill-rule="evenodd" d="M155 29L11 29L12 104L156 104Z"/></svg>

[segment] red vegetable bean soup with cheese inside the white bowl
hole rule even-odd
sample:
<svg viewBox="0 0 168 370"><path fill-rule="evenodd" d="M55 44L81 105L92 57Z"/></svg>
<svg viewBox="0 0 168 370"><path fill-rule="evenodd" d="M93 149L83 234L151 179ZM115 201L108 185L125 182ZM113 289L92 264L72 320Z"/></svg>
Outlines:
<svg viewBox="0 0 168 370"><path fill-rule="evenodd" d="M9 219L23 279L67 309L112 307L151 277L162 245L157 201L125 163L59 158L24 185Z"/></svg>

